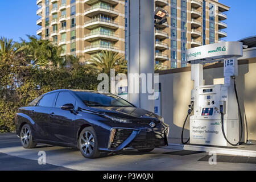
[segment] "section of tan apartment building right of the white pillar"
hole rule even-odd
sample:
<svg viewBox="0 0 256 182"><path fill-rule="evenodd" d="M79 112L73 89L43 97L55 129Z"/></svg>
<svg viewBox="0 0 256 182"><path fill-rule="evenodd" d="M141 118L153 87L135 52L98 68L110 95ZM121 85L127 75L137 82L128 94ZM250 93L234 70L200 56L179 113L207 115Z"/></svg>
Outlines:
<svg viewBox="0 0 256 182"><path fill-rule="evenodd" d="M155 62L164 68L186 67L186 50L223 41L224 11L218 0L155 0L167 11L167 22L155 30Z"/></svg>

